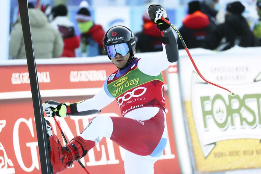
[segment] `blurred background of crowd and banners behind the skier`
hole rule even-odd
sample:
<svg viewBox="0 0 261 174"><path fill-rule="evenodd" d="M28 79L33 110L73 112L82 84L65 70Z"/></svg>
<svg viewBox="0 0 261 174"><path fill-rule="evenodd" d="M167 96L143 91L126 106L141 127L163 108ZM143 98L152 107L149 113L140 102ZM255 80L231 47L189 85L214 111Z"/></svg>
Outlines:
<svg viewBox="0 0 261 174"><path fill-rule="evenodd" d="M73 103L99 91L117 69L103 49L115 25L135 34L135 56L161 51L161 33L146 14L151 3L166 8L202 75L236 93L202 81L176 37L179 61L162 71L169 137L155 174L261 173L261 0L28 0L42 100ZM39 173L17 0L1 1L0 17L0 174ZM99 114L121 115L116 101ZM71 139L94 116L58 121ZM108 139L81 159L90 173L115 174L123 160L123 148ZM76 172L83 172L77 164L64 173Z"/></svg>

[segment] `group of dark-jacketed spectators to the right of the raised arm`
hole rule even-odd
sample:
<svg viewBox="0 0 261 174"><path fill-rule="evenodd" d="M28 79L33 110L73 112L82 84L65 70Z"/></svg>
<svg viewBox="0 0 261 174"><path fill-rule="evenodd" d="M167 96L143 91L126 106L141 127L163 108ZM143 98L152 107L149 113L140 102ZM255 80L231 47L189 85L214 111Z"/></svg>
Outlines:
<svg viewBox="0 0 261 174"><path fill-rule="evenodd" d="M258 2L261 1L258 0ZM240 1L227 4L225 21L219 24L216 20L217 4L217 0L191 1L189 3L189 14L186 15L183 26L179 29L188 48L223 51L235 45L241 47L261 46L258 35L254 35L258 32L251 31L248 22L242 16L245 7ZM260 26L260 22L254 28L257 29L258 25ZM179 49L183 49L179 39L178 46Z"/></svg>

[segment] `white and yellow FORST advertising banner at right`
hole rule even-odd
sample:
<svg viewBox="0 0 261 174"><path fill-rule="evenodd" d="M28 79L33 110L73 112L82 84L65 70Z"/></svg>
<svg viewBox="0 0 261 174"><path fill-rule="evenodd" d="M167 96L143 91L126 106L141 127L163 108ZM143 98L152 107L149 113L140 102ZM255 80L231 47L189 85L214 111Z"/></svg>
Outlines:
<svg viewBox="0 0 261 174"><path fill-rule="evenodd" d="M203 81L188 57L179 62L186 121L197 171L261 167L260 48L238 48L193 54Z"/></svg>

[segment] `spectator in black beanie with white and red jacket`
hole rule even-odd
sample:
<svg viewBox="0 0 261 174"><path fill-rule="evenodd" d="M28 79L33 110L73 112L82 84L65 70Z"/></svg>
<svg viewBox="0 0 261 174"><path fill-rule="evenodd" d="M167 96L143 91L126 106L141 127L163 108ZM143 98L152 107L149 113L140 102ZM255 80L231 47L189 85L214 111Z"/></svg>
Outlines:
<svg viewBox="0 0 261 174"><path fill-rule="evenodd" d="M61 57L75 57L75 49L80 46L80 39L75 35L74 24L68 19L67 12L67 8L63 4L53 7L51 25L59 30L64 40Z"/></svg>

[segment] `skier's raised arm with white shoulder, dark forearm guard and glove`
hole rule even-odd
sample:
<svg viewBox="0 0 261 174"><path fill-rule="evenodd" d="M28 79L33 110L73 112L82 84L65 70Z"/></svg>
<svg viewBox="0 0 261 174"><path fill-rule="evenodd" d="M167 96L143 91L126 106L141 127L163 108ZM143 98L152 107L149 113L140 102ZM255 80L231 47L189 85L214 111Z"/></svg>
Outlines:
<svg viewBox="0 0 261 174"><path fill-rule="evenodd" d="M165 8L160 5L153 4L148 8L148 15L151 20L157 24L162 34L163 51L155 54L153 57L144 57L139 60L138 68L148 75L159 75L161 71L179 59L177 41L173 30L160 17L168 20Z"/></svg>

